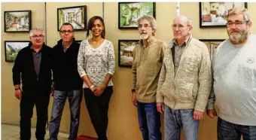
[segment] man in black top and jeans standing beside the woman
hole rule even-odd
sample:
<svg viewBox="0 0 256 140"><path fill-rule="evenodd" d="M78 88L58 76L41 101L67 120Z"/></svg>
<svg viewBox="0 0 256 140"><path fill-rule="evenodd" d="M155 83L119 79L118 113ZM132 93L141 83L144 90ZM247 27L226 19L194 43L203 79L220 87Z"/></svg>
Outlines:
<svg viewBox="0 0 256 140"><path fill-rule="evenodd" d="M56 140L59 132L62 111L69 98L71 113L69 140L75 140L78 135L80 105L82 99L83 81L78 74L78 50L80 44L75 42L74 28L70 23L64 23L60 28L60 40L53 47L53 109L50 118L50 140Z"/></svg>

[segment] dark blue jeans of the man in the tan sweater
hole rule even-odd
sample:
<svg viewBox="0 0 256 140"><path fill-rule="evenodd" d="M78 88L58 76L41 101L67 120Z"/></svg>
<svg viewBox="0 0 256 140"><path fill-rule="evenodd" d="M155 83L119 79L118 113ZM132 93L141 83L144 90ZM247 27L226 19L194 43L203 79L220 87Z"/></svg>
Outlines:
<svg viewBox="0 0 256 140"><path fill-rule="evenodd" d="M161 120L157 111L157 104L137 101L139 129L144 140L161 140Z"/></svg>

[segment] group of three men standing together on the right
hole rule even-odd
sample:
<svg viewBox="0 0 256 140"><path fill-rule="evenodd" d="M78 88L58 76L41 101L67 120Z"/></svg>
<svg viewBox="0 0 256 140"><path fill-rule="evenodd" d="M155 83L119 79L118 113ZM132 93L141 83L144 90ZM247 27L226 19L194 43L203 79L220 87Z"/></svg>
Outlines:
<svg viewBox="0 0 256 140"><path fill-rule="evenodd" d="M218 140L256 140L256 35L250 33L246 9L227 15L229 38L215 50L212 62L206 44L193 38L192 21L184 16L172 23L169 44L154 37L154 17L139 19L141 41L133 50L132 102L144 140L197 140L206 110L217 116ZM207 138L205 138L207 139Z"/></svg>

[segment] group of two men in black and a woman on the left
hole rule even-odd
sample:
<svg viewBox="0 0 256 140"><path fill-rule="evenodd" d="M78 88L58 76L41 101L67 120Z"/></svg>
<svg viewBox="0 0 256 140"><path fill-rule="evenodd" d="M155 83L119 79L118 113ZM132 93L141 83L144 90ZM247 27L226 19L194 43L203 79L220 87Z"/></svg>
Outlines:
<svg viewBox="0 0 256 140"><path fill-rule="evenodd" d="M44 140L51 95L50 140L58 138L66 99L69 99L71 114L69 140L75 140L84 89L87 110L98 138L107 140L108 103L113 93L111 76L114 74L115 56L113 44L105 39L102 17L95 16L89 20L87 37L90 34L93 37L81 44L75 42L74 28L70 23L61 26L61 39L53 48L44 44L43 29L32 29L29 34L31 42L20 50L13 68L15 96L20 99L20 139L31 138L31 118L35 105L35 137Z"/></svg>

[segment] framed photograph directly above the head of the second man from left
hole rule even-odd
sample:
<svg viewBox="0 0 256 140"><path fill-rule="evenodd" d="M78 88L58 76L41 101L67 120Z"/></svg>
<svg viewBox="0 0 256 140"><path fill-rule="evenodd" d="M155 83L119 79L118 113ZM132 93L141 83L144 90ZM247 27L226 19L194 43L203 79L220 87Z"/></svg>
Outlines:
<svg viewBox="0 0 256 140"><path fill-rule="evenodd" d="M57 8L58 31L63 23L71 23L74 31L87 29L87 6Z"/></svg>

